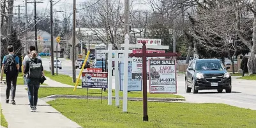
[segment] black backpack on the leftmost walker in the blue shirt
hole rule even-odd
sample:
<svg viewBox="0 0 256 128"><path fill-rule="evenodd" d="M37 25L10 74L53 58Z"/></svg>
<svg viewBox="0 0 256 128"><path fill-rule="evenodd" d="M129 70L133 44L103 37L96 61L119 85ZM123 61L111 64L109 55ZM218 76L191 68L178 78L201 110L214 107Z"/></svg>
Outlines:
<svg viewBox="0 0 256 128"><path fill-rule="evenodd" d="M15 57L12 55L6 56L6 63L4 63L4 74L6 76L16 76L18 74Z"/></svg>

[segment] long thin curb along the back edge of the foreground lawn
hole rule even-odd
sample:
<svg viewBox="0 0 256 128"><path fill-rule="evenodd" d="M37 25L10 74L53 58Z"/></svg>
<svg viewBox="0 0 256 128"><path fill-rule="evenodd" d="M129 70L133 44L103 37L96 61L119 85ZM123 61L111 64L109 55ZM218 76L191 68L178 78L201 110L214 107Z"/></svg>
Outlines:
<svg viewBox="0 0 256 128"><path fill-rule="evenodd" d="M86 96L76 96L76 95L52 95L45 98L72 98L72 99L86 99ZM88 99L107 99L107 96L87 96ZM112 96L112 99L116 99ZM119 97L119 99L123 99ZM130 101L142 101L143 98L128 98ZM158 102L168 102L168 101L185 101L184 98L147 98L147 101L158 101Z"/></svg>

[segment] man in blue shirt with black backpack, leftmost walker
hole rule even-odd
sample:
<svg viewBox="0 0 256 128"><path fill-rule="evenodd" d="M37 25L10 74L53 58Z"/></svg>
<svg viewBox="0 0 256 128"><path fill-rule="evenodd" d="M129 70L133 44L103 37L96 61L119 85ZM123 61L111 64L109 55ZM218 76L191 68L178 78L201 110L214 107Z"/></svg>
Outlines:
<svg viewBox="0 0 256 128"><path fill-rule="evenodd" d="M19 57L13 54L14 47L8 46L8 55L4 56L3 58L3 66L1 72L1 80L3 80L3 73L6 74L6 103L9 103L9 96L11 90L11 104L15 105L15 93L16 93L16 84L17 84L17 77L19 74ZM12 83L12 84L11 84Z"/></svg>

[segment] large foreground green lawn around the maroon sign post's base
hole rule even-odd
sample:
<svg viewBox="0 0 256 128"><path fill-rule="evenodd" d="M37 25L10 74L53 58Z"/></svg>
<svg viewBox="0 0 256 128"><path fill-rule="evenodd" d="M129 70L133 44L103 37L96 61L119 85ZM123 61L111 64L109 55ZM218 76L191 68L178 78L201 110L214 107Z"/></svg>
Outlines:
<svg viewBox="0 0 256 128"><path fill-rule="evenodd" d="M148 102L149 122L143 122L142 101L128 101L128 113L107 105L107 100L103 104L96 99L48 103L82 127L256 127L256 111L223 104Z"/></svg>

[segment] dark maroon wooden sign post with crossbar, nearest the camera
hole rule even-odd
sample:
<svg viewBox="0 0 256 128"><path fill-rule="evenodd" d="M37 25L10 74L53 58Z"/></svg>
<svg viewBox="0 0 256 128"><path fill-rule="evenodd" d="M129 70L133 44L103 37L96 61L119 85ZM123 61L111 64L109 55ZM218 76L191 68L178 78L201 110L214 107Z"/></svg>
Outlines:
<svg viewBox="0 0 256 128"><path fill-rule="evenodd" d="M143 83L143 121L148 121L147 115L147 57L179 56L178 53L146 53L146 41L142 41L142 53L130 54L131 57L142 57L142 83ZM149 45L150 47L150 45ZM156 47L156 46L154 46ZM163 46L164 48L168 46ZM154 48L155 49L155 48Z"/></svg>

